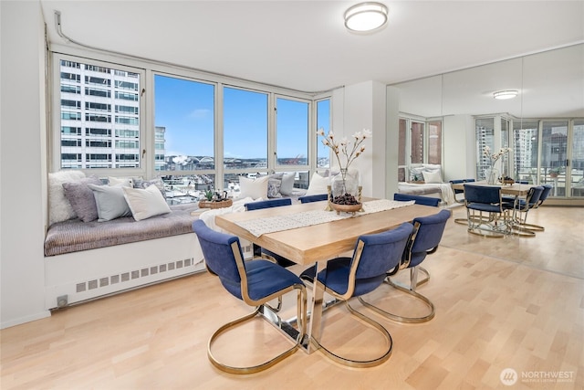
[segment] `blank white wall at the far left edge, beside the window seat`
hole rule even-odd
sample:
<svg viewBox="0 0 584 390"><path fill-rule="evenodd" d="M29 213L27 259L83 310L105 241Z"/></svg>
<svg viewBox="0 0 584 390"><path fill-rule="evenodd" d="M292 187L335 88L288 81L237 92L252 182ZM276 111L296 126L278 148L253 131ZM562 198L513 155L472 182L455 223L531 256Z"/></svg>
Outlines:
<svg viewBox="0 0 584 390"><path fill-rule="evenodd" d="M0 1L0 327L45 310L44 21L38 2Z"/></svg>

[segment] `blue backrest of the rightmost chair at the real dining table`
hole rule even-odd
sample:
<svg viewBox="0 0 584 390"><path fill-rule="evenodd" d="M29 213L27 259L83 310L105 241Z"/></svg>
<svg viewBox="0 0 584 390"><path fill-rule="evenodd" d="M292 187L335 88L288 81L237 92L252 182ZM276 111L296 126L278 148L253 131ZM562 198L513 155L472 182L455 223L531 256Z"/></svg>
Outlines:
<svg viewBox="0 0 584 390"><path fill-rule="evenodd" d="M412 223L414 227L417 227L417 233L413 239L411 249L409 249L412 252L410 267L415 267L422 263L428 254L427 252L438 247L450 216L449 210L441 210L440 213L433 216L421 216L413 219Z"/></svg>

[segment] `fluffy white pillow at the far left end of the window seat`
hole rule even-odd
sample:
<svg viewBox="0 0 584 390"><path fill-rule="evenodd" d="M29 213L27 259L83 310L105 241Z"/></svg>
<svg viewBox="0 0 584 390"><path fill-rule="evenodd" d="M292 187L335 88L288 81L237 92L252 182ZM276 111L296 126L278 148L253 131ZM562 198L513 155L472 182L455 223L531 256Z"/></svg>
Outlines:
<svg viewBox="0 0 584 390"><path fill-rule="evenodd" d="M59 171L48 174L48 225L77 218L73 206L65 197L63 184L85 177L81 171Z"/></svg>

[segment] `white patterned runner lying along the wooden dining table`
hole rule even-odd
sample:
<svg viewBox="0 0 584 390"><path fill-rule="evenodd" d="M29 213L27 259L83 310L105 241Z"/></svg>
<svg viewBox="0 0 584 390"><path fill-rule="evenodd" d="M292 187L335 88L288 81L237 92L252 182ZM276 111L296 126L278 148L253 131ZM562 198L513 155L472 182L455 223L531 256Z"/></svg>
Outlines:
<svg viewBox="0 0 584 390"><path fill-rule="evenodd" d="M255 237L260 237L266 233L274 233L282 230L295 229L297 227L309 227L312 225L324 224L351 217L364 216L371 213L391 210L404 206L411 206L415 202L399 202L389 199L377 199L363 202L363 210L354 216L350 213L337 214L334 211L310 210L287 216L267 216L265 218L250 219L247 221L235 222L239 227L245 228Z"/></svg>

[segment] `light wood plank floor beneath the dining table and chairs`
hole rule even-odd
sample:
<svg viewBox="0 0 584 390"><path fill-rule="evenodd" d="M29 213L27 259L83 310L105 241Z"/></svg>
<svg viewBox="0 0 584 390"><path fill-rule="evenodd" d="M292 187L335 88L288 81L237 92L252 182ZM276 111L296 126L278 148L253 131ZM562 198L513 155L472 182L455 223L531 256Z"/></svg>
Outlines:
<svg viewBox="0 0 584 390"><path fill-rule="evenodd" d="M464 217L464 208L455 208L454 216ZM433 300L436 317L405 325L368 311L394 342L390 360L378 367L349 369L319 352L297 352L264 373L218 372L207 360L207 340L248 308L202 273L2 330L0 387L582 389L584 208L541 207L529 219L546 231L535 238L485 239L449 221L442 247L424 263L432 279L419 290ZM370 299L418 310L384 289ZM377 349L379 335L342 306L326 312L324 326L323 343L346 353ZM245 360L249 343L287 347L262 321L237 332L217 346L224 359ZM506 368L518 374L516 385L501 382ZM558 373L564 379L550 379Z"/></svg>

